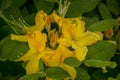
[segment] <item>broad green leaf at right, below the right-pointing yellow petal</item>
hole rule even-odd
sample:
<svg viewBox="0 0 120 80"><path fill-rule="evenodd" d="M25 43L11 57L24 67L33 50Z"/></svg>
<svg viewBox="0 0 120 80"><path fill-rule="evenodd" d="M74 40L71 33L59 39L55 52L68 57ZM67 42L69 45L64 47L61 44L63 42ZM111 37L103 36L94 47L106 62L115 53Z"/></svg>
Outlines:
<svg viewBox="0 0 120 80"><path fill-rule="evenodd" d="M111 41L99 41L88 47L86 59L110 60L116 51L117 45Z"/></svg>

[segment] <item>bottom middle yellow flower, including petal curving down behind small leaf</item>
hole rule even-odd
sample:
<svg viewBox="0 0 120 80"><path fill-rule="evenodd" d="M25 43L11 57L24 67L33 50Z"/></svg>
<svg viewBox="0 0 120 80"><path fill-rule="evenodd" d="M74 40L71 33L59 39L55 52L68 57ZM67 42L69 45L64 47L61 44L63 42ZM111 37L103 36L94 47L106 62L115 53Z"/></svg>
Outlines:
<svg viewBox="0 0 120 80"><path fill-rule="evenodd" d="M64 59L70 56L73 56L73 53L66 47L59 45L54 53L44 55L43 61L49 67L62 67L65 71L67 71L70 74L71 79L74 80L76 77L75 68L63 63Z"/></svg>

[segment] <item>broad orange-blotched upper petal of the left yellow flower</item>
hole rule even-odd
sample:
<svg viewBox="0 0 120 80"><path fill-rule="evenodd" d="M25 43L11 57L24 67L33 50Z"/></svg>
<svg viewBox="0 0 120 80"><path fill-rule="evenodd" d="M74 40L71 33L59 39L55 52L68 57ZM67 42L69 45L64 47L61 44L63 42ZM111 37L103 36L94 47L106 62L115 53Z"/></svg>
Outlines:
<svg viewBox="0 0 120 80"><path fill-rule="evenodd" d="M35 49L38 52L44 50L47 42L46 34L37 30L33 34L27 34L27 38L30 49Z"/></svg>

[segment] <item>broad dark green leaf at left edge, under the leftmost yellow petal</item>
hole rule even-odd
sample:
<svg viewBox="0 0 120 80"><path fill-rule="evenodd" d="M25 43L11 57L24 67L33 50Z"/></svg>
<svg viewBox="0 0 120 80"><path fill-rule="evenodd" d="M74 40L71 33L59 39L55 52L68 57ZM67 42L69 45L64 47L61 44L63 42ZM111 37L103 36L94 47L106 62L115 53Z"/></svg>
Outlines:
<svg viewBox="0 0 120 80"><path fill-rule="evenodd" d="M13 41L7 37L0 41L0 52L2 59L16 60L28 51L27 43Z"/></svg>

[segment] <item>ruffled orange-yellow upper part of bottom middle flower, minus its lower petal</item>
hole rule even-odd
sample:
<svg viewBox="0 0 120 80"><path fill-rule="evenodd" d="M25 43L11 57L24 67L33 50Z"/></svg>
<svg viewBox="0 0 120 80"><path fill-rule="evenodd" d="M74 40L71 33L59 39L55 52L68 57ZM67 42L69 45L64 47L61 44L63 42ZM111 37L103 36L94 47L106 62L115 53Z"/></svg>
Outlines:
<svg viewBox="0 0 120 80"><path fill-rule="evenodd" d="M59 45L54 53L45 54L43 61L47 66L59 66L66 57L73 56L73 53L64 46Z"/></svg>

